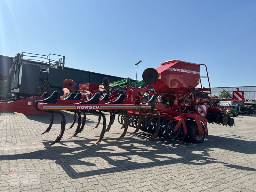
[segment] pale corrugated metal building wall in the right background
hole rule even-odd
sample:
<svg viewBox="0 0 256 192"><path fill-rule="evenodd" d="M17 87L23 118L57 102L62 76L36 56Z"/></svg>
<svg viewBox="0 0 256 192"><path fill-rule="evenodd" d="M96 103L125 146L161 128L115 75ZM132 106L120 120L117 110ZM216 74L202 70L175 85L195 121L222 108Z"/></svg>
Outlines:
<svg viewBox="0 0 256 192"><path fill-rule="evenodd" d="M236 91L236 88L239 88L240 91L244 91L245 99L256 100L256 86L245 86L245 87L214 87L212 88L212 95L220 95L221 90L225 89L226 91L232 94L233 91Z"/></svg>

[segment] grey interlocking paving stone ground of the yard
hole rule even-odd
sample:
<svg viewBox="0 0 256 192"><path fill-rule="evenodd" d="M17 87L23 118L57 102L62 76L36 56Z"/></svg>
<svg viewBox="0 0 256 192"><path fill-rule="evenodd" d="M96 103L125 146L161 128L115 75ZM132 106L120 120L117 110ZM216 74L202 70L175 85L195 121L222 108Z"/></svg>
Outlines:
<svg viewBox="0 0 256 192"><path fill-rule="evenodd" d="M67 127L73 115L64 112ZM84 131L49 144L60 132L50 114L0 114L0 191L256 191L256 116L238 116L235 126L209 124L209 136L192 144L150 134L115 120L103 141L91 146L101 126L87 116ZM107 121L109 116L107 116Z"/></svg>

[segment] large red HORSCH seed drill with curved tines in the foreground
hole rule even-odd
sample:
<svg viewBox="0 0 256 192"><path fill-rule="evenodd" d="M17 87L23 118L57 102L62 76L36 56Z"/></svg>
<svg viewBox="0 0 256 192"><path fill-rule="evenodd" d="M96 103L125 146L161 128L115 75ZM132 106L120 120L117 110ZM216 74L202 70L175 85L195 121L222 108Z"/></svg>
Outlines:
<svg viewBox="0 0 256 192"><path fill-rule="evenodd" d="M207 76L200 76L200 66L205 67ZM59 142L65 131L66 120L61 110L75 113L73 123L67 129L74 125L78 115L78 125L70 138L84 129L86 114L99 115L94 128L103 118L100 137L94 144L100 142L104 133L109 131L116 114L119 114L118 122L124 129L117 140L124 137L130 126L135 128L134 132L142 130L152 133L150 140L162 136L179 140L189 138L194 143L200 143L208 135L208 122L234 125L234 118L227 116L225 111L211 102L208 96L211 95L210 83L209 88L202 87L203 77L207 78L209 83L204 64L170 60L156 69L148 68L143 72L142 78L148 86L136 88L128 85L124 89L105 94L101 99L101 93L95 93L91 99L80 102L72 99L58 100L59 92L53 92L44 100L36 100L34 106L37 111L51 113L50 125L45 132L49 132L52 127L54 113L62 118L60 135L52 144ZM104 86L107 87L108 81L104 82ZM201 86L196 88L199 84ZM150 91L150 85L154 91ZM149 94L151 98L147 102L141 102L145 94ZM102 112L110 113L108 126Z"/></svg>

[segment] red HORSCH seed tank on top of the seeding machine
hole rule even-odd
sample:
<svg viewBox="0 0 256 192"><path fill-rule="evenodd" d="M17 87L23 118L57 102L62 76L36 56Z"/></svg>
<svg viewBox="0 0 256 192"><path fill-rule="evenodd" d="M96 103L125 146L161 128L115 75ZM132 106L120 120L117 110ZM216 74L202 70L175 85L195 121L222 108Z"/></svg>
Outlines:
<svg viewBox="0 0 256 192"><path fill-rule="evenodd" d="M180 60L169 60L156 68L158 80L151 86L160 92L185 91L200 83L200 65Z"/></svg>

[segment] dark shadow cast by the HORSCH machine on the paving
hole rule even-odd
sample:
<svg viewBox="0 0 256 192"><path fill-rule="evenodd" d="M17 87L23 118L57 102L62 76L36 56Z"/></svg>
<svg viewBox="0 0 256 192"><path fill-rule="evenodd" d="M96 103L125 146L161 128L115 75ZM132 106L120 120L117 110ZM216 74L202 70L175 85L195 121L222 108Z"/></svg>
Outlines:
<svg viewBox="0 0 256 192"><path fill-rule="evenodd" d="M129 134L131 135L131 133ZM213 148L244 154L256 154L255 141L209 136L204 143L192 144L165 138L149 141L149 135L144 132L137 132L133 135L143 140L134 139L128 135L120 141L109 141L107 138L104 138L103 142L95 146L88 146L92 142L91 139L73 140L72 142L75 145L71 147L48 147L48 142L44 142L45 146L48 146L42 150L15 155L2 155L0 160L54 160L73 179L178 163L196 165L219 163L235 169L256 172L254 168L220 162L209 155L209 151L213 150ZM70 141L62 141L61 143L65 145L65 142ZM140 156L146 161L134 162L131 156ZM92 158L94 161L90 162ZM95 158L101 158L103 160L102 163L104 164L105 162L105 165L95 164ZM77 172L76 168L74 168L76 165L82 165L84 171ZM81 170L81 167L79 170Z"/></svg>

